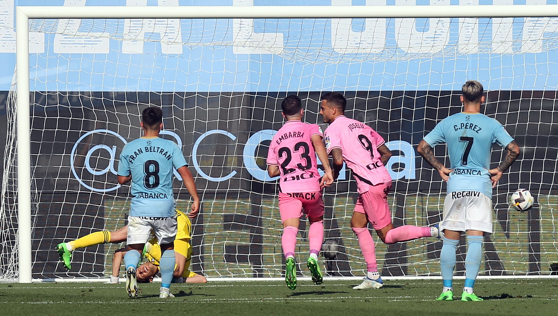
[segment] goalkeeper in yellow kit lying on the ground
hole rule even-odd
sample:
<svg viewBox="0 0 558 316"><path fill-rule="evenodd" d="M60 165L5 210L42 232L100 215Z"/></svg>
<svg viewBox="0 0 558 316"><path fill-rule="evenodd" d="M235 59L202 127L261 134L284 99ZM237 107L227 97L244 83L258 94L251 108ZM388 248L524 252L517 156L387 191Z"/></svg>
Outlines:
<svg viewBox="0 0 558 316"><path fill-rule="evenodd" d="M190 231L191 222L190 219L184 215L181 211L176 211L177 215L177 232L176 239L174 241L174 250L176 255L176 265L174 271L174 278L177 282L186 283L205 283L207 279L203 275L199 275L189 271L190 257L192 254L192 247L190 246ZM84 248L86 246L93 246L97 244L103 244L106 242L112 242L118 244L119 242L126 241L126 235L128 231L128 225L122 227L117 231L98 231L92 234L86 235L76 240L69 242L62 242L57 246L58 254L60 255L60 260L64 262L66 268L71 269L71 252ZM120 271L120 265L124 254L128 251L128 247L124 247L114 252L113 257L113 275L110 278L111 283L118 282L118 274ZM149 260L145 264L142 264L137 269L137 279L138 281L151 281L153 276L158 271L158 262L161 260L161 248L157 244L156 239L152 239L146 244L146 249L144 255ZM182 278L182 279L181 279Z"/></svg>

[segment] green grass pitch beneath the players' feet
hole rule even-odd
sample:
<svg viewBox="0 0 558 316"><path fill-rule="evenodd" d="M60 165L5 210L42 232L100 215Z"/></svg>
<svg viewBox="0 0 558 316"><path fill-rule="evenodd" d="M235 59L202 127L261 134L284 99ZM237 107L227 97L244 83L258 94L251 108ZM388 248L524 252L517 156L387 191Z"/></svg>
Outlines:
<svg viewBox="0 0 558 316"><path fill-rule="evenodd" d="M484 302L436 302L437 280L386 280L382 289L353 290L359 281L299 281L296 290L278 281L173 284L176 298L159 299L158 283L140 284L128 298L124 284L0 284L2 315L557 315L556 279L479 280ZM455 299L463 280L454 281Z"/></svg>

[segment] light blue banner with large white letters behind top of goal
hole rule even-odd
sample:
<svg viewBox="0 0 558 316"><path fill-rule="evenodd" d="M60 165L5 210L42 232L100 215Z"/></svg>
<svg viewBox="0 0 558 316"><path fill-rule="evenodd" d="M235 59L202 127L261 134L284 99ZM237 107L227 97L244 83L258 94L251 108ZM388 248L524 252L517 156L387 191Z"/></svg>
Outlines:
<svg viewBox="0 0 558 316"><path fill-rule="evenodd" d="M203 0L0 0L0 61L6 70L15 67L16 5L207 4ZM210 4L435 7L556 4L556 0L215 0ZM459 90L468 79L479 80L489 90L558 87L558 20L551 17L198 19L165 21L164 27L158 20L106 23L118 25L116 35L84 37L86 23L82 23L74 33L80 36L71 36L69 20L54 23L50 33L31 32L31 90L440 91ZM33 26L32 22L32 31ZM42 27L37 31L45 31ZM206 38L211 41L205 42ZM204 45L183 45L196 41ZM0 90L8 90L11 80L12 72L4 71Z"/></svg>

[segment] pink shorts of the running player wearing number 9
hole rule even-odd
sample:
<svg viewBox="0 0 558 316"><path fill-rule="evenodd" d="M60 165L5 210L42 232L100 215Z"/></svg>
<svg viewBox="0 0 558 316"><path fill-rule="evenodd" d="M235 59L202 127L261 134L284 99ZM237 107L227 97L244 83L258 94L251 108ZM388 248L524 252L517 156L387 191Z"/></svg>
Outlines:
<svg viewBox="0 0 558 316"><path fill-rule="evenodd" d="M368 191L358 196L354 211L363 213L372 223L374 230L381 230L391 224L391 213L387 204L387 193L391 182L369 186Z"/></svg>

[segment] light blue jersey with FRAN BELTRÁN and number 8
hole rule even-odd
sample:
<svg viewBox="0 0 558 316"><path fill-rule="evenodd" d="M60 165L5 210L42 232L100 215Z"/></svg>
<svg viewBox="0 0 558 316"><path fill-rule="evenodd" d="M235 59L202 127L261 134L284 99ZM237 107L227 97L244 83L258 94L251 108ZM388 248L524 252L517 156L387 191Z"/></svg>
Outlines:
<svg viewBox="0 0 558 316"><path fill-rule="evenodd" d="M142 137L124 145L118 176L132 174L130 216L171 217L172 167L187 166L179 145L158 137Z"/></svg>

